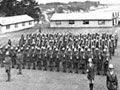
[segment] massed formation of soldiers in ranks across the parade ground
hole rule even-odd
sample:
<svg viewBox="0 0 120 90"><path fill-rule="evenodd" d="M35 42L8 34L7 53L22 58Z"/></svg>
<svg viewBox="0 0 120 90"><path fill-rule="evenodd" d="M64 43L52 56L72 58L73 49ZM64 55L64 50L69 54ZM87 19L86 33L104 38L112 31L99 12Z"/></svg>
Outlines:
<svg viewBox="0 0 120 90"><path fill-rule="evenodd" d="M96 74L106 74L117 43L117 34L27 34L21 35L17 46L12 45L11 40L7 46L1 46L0 61L2 63L5 52L9 51L13 68L20 53L19 63L23 68L86 73L91 58Z"/></svg>

